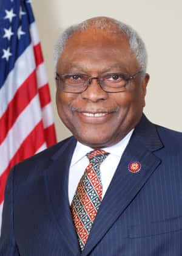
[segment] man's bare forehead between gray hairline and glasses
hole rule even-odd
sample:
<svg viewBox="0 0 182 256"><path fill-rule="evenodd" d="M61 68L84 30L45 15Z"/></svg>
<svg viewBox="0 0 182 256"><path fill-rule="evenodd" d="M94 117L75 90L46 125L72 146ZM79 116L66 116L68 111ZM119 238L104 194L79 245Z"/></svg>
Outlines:
<svg viewBox="0 0 182 256"><path fill-rule="evenodd" d="M135 54L130 50L129 38L123 32L95 27L73 33L59 57L58 69L75 63L81 66L84 62L95 68L118 63L130 69L138 66Z"/></svg>

